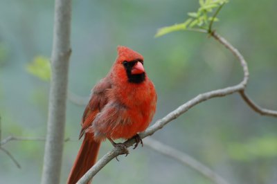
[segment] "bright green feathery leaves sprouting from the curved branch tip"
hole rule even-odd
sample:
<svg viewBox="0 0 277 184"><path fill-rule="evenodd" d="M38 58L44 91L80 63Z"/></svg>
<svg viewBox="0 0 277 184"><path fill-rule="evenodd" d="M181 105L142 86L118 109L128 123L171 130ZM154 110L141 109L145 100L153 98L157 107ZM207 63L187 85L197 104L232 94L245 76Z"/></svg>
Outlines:
<svg viewBox="0 0 277 184"><path fill-rule="evenodd" d="M161 37L177 30L209 33L213 22L219 20L216 16L224 3L228 3L228 0L199 0L200 7L197 12L188 12L189 18L184 23L160 28L155 37Z"/></svg>

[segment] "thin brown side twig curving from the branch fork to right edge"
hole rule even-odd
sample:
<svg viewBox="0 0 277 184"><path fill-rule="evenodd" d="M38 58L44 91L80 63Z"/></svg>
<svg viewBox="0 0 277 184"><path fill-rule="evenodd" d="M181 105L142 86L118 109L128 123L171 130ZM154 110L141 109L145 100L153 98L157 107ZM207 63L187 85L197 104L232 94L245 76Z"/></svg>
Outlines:
<svg viewBox="0 0 277 184"><path fill-rule="evenodd" d="M263 109L262 107L258 106L255 102L253 102L248 95L245 93L244 90L240 91L240 95L242 96L242 99L257 113L260 113L260 115L265 116L274 116L277 117L277 111L272 111L270 109Z"/></svg>

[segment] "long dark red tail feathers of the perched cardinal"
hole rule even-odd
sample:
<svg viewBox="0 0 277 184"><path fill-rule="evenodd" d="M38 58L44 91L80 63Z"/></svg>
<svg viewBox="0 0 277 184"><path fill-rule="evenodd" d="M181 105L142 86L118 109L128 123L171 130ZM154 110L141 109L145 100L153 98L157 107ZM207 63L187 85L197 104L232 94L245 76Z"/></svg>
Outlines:
<svg viewBox="0 0 277 184"><path fill-rule="evenodd" d="M96 142L93 139L93 134L87 133L84 135L84 140L69 174L68 184L77 183L77 181L79 181L79 179L96 163L100 144L101 142Z"/></svg>

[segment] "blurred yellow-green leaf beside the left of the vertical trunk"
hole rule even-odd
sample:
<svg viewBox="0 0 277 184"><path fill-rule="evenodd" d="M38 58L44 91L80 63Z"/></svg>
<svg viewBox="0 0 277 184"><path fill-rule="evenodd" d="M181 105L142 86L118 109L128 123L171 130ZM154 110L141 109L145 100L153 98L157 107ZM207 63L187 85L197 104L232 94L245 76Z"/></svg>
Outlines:
<svg viewBox="0 0 277 184"><path fill-rule="evenodd" d="M49 59L41 55L36 56L33 59L33 62L26 66L26 71L44 81L49 81L51 78L51 66Z"/></svg>

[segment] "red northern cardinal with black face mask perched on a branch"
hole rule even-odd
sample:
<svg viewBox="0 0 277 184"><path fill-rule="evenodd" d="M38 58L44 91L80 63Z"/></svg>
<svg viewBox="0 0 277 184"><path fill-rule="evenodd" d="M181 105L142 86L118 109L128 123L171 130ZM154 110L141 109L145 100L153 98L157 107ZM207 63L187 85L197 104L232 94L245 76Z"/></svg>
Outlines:
<svg viewBox="0 0 277 184"><path fill-rule="evenodd" d="M106 138L136 138L150 124L156 111L157 94L143 67L143 56L118 46L118 57L111 71L92 89L82 116L80 138L84 140L68 178L75 184L95 163L100 143Z"/></svg>

